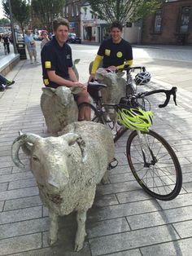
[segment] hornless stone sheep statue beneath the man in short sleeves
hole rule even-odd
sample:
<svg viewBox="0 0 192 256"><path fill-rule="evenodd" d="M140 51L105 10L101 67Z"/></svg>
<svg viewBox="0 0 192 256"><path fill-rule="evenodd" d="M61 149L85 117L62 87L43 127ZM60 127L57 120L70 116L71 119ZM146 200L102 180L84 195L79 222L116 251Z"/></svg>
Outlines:
<svg viewBox="0 0 192 256"><path fill-rule="evenodd" d="M41 111L46 120L48 132L57 134L64 126L78 120L78 107L73 94L81 89L59 86L57 89L44 87L41 95Z"/></svg>

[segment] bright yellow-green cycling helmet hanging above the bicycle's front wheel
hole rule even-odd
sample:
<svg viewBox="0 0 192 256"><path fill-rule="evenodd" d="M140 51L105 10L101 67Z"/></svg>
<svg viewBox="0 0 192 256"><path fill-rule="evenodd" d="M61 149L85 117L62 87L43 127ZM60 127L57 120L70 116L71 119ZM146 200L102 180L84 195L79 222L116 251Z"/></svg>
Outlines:
<svg viewBox="0 0 192 256"><path fill-rule="evenodd" d="M142 108L119 108L118 120L120 124L130 130L148 131L152 126L153 113Z"/></svg>

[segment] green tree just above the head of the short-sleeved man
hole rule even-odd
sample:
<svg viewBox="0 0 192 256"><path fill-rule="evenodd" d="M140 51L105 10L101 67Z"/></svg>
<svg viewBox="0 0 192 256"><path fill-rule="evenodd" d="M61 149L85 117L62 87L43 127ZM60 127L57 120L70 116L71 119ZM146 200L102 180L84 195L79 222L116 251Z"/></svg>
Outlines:
<svg viewBox="0 0 192 256"><path fill-rule="evenodd" d="M32 13L41 21L41 27L51 31L52 21L63 15L64 4L65 0L33 0Z"/></svg>

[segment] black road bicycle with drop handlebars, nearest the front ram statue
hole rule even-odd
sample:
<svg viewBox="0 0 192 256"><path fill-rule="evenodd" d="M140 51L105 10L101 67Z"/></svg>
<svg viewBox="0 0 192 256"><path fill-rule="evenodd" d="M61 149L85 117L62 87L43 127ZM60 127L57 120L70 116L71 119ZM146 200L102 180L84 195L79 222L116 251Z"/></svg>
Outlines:
<svg viewBox="0 0 192 256"><path fill-rule="evenodd" d="M81 108L84 107L90 108L92 121L108 125L110 120L108 120L105 107L114 108L118 115L117 122L121 125L116 130L116 135L114 136L115 143L128 130L128 127L122 123L122 119L120 121L120 111L122 108L142 108L145 111L146 96L158 93L164 93L166 95L164 104L160 104L159 108L164 108L168 105L171 95L173 95L174 102L177 104L177 87L172 87L171 90L151 90L126 95L120 100L120 104L103 104L101 89L106 86L98 83L89 83L89 86L92 88L92 97L95 106L94 104L81 103L79 110L81 111ZM94 94L93 91L95 91ZM139 103L138 99L141 99L142 103ZM148 99L147 102L149 102ZM137 183L149 195L156 199L162 201L174 199L181 191L182 173L180 163L172 147L161 135L158 135L153 130L138 130L134 127L131 127L130 130L133 131L127 139L126 155L130 170Z"/></svg>

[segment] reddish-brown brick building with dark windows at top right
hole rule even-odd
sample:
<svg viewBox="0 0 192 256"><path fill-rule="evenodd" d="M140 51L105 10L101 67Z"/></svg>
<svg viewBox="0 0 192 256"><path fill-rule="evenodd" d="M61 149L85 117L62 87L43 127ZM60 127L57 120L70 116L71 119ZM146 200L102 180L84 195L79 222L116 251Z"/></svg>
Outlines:
<svg viewBox="0 0 192 256"><path fill-rule="evenodd" d="M165 0L142 24L142 44L192 45L192 0Z"/></svg>

